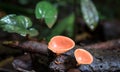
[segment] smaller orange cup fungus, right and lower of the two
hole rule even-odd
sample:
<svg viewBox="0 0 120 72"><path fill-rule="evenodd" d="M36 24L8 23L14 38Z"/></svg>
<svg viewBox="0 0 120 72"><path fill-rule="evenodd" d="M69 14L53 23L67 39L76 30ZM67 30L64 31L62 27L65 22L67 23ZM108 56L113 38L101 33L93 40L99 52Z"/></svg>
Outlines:
<svg viewBox="0 0 120 72"><path fill-rule="evenodd" d="M91 64L93 62L93 56L87 50L76 49L74 55L78 65Z"/></svg>

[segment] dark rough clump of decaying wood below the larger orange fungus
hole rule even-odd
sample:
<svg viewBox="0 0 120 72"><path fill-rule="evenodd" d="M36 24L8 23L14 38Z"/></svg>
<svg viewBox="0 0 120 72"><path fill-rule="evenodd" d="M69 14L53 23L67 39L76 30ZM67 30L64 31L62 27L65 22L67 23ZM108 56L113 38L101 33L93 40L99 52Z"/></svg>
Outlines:
<svg viewBox="0 0 120 72"><path fill-rule="evenodd" d="M49 67L51 72L66 72L70 68L76 66L76 61L73 57L68 55L60 55L53 60Z"/></svg>

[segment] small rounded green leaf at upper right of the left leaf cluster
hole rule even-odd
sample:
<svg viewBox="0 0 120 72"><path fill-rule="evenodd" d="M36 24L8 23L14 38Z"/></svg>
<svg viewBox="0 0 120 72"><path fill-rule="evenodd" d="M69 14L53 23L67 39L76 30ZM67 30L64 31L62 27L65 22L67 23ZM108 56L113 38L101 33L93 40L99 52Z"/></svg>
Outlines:
<svg viewBox="0 0 120 72"><path fill-rule="evenodd" d="M22 16L22 15L17 16L16 20L20 27L29 28L32 26L32 21L30 20L30 18L26 16Z"/></svg>

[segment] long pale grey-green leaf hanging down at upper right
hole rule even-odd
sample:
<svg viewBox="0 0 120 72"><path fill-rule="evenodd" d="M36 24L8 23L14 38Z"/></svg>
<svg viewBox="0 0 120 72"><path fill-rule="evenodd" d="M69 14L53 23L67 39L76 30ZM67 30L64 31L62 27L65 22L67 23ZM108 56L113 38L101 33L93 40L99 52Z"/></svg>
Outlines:
<svg viewBox="0 0 120 72"><path fill-rule="evenodd" d="M99 16L96 7L91 0L81 0L81 9L83 13L83 18L87 23L87 26L94 30L98 25Z"/></svg>

